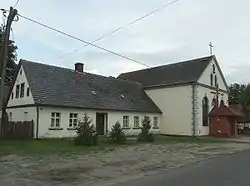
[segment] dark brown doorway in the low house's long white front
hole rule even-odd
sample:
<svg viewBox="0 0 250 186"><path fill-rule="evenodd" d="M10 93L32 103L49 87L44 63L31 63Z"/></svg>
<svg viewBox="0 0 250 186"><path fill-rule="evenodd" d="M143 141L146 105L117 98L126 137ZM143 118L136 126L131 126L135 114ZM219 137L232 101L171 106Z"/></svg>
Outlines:
<svg viewBox="0 0 250 186"><path fill-rule="evenodd" d="M105 135L107 133L107 113L96 113L96 132L98 135Z"/></svg>

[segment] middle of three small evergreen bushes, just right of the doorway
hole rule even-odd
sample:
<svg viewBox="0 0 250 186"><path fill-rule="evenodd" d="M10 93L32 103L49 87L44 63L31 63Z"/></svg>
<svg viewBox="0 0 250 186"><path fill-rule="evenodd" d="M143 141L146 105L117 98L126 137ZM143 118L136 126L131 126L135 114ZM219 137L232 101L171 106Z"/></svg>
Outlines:
<svg viewBox="0 0 250 186"><path fill-rule="evenodd" d="M109 133L109 142L116 143L116 144L124 144L126 142L126 136L118 121L112 127L111 132Z"/></svg>

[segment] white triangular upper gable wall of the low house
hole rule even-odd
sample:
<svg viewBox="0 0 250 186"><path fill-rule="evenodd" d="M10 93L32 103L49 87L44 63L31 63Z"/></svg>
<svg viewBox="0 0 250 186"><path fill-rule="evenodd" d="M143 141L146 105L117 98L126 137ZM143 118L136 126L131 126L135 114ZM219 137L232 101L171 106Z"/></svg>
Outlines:
<svg viewBox="0 0 250 186"><path fill-rule="evenodd" d="M20 92L19 92L19 98L16 98L16 85L21 84L21 83L25 83L25 85L24 85L24 97L20 98ZM23 67L20 67L16 81L15 81L14 86L13 86L13 89L11 90L11 92L13 93L14 96L13 96L13 99L11 99L11 96L10 96L7 107L34 104L31 90L29 91L29 96L27 96L27 88L28 87L29 87L29 83L27 81L25 72L23 70ZM21 91L21 87L20 87L20 91Z"/></svg>

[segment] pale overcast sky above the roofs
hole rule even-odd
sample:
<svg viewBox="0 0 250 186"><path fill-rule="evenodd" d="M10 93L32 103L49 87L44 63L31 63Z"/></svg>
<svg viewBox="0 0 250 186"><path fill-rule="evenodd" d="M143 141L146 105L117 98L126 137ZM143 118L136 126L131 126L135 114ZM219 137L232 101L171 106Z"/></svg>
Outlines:
<svg viewBox="0 0 250 186"><path fill-rule="evenodd" d="M172 0L20 0L20 14L87 41L93 41ZM8 9L16 0L0 0ZM180 0L96 44L150 66L209 55L208 44L228 83L250 82L250 1ZM2 19L1 19L2 21ZM107 52L85 47L20 18L13 23L18 58L67 68L83 62L85 70L106 76L145 68ZM65 56L68 52L82 49ZM63 58L61 58L64 56Z"/></svg>

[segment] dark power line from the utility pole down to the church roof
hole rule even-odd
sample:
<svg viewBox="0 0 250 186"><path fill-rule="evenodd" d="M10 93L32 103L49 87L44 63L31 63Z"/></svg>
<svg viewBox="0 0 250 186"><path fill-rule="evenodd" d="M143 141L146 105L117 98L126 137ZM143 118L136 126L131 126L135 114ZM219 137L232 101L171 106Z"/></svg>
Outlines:
<svg viewBox="0 0 250 186"><path fill-rule="evenodd" d="M51 26L45 25L45 24L43 24L43 23L41 23L41 22L35 21L35 20L33 20L33 19L31 19L31 18L28 18L28 17L26 17L26 16L23 16L23 15L20 15L20 14L18 14L18 16L21 17L21 18L23 18L23 19L26 19L26 20L28 20L28 21L30 21L30 22L33 22L33 23L38 24L38 25L40 25L40 26L43 26L43 27L45 27L45 28L47 28L47 29L50 29L50 30L53 30L53 31L55 31L55 32L58 32L58 33L60 33L60 34L62 34L62 35L65 35L65 36L67 36L67 37L69 37L69 38L71 38L71 39L78 40L78 41L80 41L80 42L83 42L83 43L85 43L85 44L91 45L91 46L93 46L93 47L95 47L95 48L98 48L98 49L100 49L100 50L106 51L106 52L108 52L108 53L110 53L110 54L113 54L113 55L119 56L119 57L121 57L121 58L130 60L130 61L133 61L133 62L135 62L135 63L138 63L138 64L141 64L141 65L150 67L149 65L147 65L147 64L145 64L145 63L143 63L143 62L134 60L134 59L132 59L132 58L130 58L130 57L126 57L126 56L124 56L124 55L122 55L122 54L119 54L119 53L117 53L117 52L113 52L113 51L111 51L111 50L109 50L109 49L106 49L106 48L97 46L97 45L95 45L95 44L93 44L93 43L90 43L90 42L88 42L88 41L85 41L85 40L83 40L83 39L81 39L81 38L78 38L78 37L76 37L76 36L70 35L70 34L68 34L68 33L66 33L66 32L63 32L63 31L58 30L58 29L56 29L56 28L53 28L53 27L51 27Z"/></svg>

